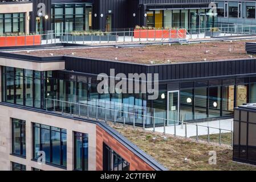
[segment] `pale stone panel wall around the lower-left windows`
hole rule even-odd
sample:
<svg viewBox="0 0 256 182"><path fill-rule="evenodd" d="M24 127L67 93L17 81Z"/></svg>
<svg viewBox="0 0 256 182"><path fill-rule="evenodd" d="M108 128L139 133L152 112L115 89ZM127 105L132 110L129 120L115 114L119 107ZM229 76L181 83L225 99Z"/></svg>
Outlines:
<svg viewBox="0 0 256 182"><path fill-rule="evenodd" d="M26 121L26 159L11 154L11 118ZM64 170L62 168L39 165L32 161L32 122L60 127L67 130L67 170L74 169L73 156L73 131L88 134L89 159L88 169L96 169L96 125L94 123L76 121L54 115L37 113L14 107L0 106L0 170L10 170L11 162L26 165L28 171L31 167L43 170Z"/></svg>

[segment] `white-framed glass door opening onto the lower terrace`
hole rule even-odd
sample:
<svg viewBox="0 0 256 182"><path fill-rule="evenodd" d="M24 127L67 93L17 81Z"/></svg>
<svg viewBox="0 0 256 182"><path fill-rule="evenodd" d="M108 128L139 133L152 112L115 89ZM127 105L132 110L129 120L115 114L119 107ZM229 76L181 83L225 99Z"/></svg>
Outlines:
<svg viewBox="0 0 256 182"><path fill-rule="evenodd" d="M178 90L168 92L167 101L167 125L173 125L174 121L178 121L179 110L180 110L180 93Z"/></svg>

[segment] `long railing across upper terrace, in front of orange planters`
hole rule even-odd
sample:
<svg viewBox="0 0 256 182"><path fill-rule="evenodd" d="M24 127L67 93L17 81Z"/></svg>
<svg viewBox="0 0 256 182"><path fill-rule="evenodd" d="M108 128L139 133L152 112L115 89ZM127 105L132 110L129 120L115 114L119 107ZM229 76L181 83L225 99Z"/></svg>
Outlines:
<svg viewBox="0 0 256 182"><path fill-rule="evenodd" d="M125 31L113 32L73 32L54 33L46 32L37 35L3 35L0 36L0 47L9 46L34 46L52 43L77 43L77 44L101 44L101 43L133 43L152 42L164 43L177 41L177 39L205 39L213 36L256 36L256 26L244 26L238 24L219 24L213 31L212 28L170 28L170 29L141 29L129 28Z"/></svg>

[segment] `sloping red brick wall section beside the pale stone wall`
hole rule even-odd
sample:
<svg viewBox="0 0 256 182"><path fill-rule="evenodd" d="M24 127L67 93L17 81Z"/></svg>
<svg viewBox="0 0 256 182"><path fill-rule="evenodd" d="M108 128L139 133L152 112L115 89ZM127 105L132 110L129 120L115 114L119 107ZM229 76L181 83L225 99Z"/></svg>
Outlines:
<svg viewBox="0 0 256 182"><path fill-rule="evenodd" d="M154 169L141 160L127 147L123 146L115 138L111 137L106 131L96 126L96 170L103 170L103 142L107 144L112 150L119 154L124 160L130 164L131 171L153 171Z"/></svg>

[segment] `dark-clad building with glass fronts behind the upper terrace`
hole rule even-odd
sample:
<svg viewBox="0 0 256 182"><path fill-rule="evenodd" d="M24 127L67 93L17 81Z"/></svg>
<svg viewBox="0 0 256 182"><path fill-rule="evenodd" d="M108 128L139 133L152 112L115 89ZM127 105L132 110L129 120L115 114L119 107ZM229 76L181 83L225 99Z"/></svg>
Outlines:
<svg viewBox="0 0 256 182"><path fill-rule="evenodd" d="M26 6L28 3L29 6ZM72 31L124 30L135 28L136 25L196 30L213 27L217 21L216 17L209 15L209 3L209 0L168 0L165 3L148 0L1 2L1 7L7 4L18 7L21 4L21 10L14 12L21 14L12 15L11 11L8 11L9 8L1 8L2 11L7 11L0 11L0 33L25 32L25 24L26 32L55 32L57 35ZM25 6L26 10L22 9L22 6ZM1 24L5 19L6 22Z"/></svg>

